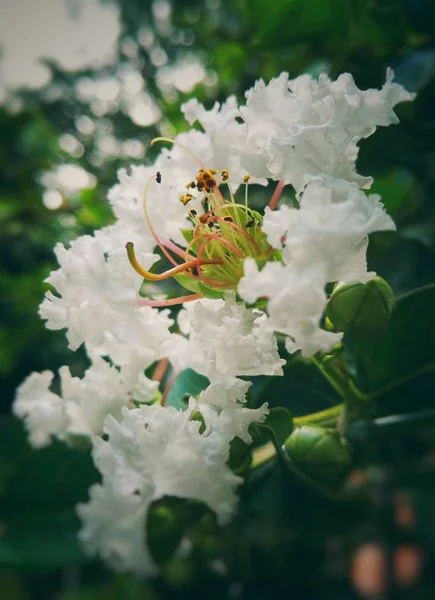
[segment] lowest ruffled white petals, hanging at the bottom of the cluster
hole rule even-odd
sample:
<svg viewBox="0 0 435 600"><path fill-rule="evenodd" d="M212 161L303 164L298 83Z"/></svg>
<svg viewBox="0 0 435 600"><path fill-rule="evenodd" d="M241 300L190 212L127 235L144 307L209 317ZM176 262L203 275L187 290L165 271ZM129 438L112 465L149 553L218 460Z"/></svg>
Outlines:
<svg viewBox="0 0 435 600"><path fill-rule="evenodd" d="M155 565L147 549L150 504L164 496L202 501L226 523L242 482L227 466L229 441L216 431L201 435L201 424L186 411L159 405L123 411L121 422L108 417L107 441L94 438L93 457L102 485L78 507L80 539L118 570L149 575Z"/></svg>

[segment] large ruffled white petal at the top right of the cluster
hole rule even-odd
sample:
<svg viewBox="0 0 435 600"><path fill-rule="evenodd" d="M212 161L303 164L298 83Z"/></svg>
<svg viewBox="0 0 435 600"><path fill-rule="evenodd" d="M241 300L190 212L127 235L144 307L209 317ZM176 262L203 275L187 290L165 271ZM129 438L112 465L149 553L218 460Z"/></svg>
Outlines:
<svg viewBox="0 0 435 600"><path fill-rule="evenodd" d="M357 143L376 127L397 123L393 107L415 97L393 77L389 69L382 89L365 91L349 73L336 81L325 74L317 81L308 75L289 81L286 73L268 85L258 81L240 108L248 124L242 165L252 175L285 180L298 192L319 175L370 187L372 179L356 172Z"/></svg>

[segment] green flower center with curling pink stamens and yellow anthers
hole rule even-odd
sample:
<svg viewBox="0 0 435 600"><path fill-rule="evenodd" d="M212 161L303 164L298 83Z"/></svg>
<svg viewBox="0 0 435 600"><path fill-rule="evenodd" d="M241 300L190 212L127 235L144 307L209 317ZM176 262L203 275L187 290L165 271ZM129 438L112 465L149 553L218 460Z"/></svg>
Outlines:
<svg viewBox="0 0 435 600"><path fill-rule="evenodd" d="M160 183L160 173L156 180ZM186 185L187 191L180 195L180 202L186 206L187 217L192 223L192 228L181 230L187 243L184 249L172 242L163 242L152 228L146 208L148 182L144 192L145 218L157 245L174 267L162 274L146 271L137 262L133 244L129 242L127 254L133 268L152 281L174 277L180 285L195 292L195 297L219 298L225 290L237 289L243 277L245 258L253 258L262 267L276 252L261 229L262 216L248 206L248 181L246 175L245 201L240 204L235 200L227 170L220 172L220 182L225 185L228 196L225 198L216 171L199 169L195 180ZM191 208L194 196L190 192L195 189L200 192L201 211ZM170 252L182 257L184 262L176 262Z"/></svg>

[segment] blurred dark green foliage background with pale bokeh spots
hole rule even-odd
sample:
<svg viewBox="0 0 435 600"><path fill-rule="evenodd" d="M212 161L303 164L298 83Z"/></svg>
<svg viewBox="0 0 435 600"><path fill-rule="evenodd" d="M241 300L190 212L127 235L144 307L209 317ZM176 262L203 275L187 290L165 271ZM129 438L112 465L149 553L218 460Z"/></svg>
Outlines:
<svg viewBox="0 0 435 600"><path fill-rule="evenodd" d="M311 497L295 500L293 489L263 490L246 522L219 533L210 515L199 527L183 513L193 551L165 562L156 582L109 572L75 541L73 507L95 479L88 454L60 444L31 451L8 413L31 371L83 369L85 356L68 351L64 333L47 331L37 314L53 247L111 222L106 193L117 170L151 161L153 137L187 128L179 110L186 99L208 107L230 94L243 100L256 79L283 70L348 71L360 88L380 87L388 66L418 96L398 106L399 126L361 143L359 172L375 178L372 189L398 225L373 236L369 260L400 296L435 279L433 0L0 0L2 600L359 597L349 548L391 542L385 515L320 510ZM433 321L427 327L433 331ZM304 391L311 375L296 371L296 385L280 384L279 393L294 392L289 405L299 402L301 412L323 408ZM407 397L433 393L433 382L421 385ZM418 465L434 455L426 439L409 444ZM399 446L395 460L403 440ZM433 474L403 485L416 490L419 517L407 535L424 548L426 574L400 597L433 598ZM295 502L304 502L303 518L283 527Z"/></svg>

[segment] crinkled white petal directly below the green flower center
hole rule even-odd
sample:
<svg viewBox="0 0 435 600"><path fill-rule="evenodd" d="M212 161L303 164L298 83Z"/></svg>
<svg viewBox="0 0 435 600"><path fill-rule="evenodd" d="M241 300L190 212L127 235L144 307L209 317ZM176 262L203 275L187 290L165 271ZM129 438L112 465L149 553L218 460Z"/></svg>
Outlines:
<svg viewBox="0 0 435 600"><path fill-rule="evenodd" d="M190 366L210 381L237 375L282 375L285 361L266 327L267 316L237 304L234 292L227 292L223 300L186 304L185 310L189 340L165 346L177 370Z"/></svg>

